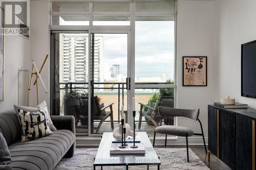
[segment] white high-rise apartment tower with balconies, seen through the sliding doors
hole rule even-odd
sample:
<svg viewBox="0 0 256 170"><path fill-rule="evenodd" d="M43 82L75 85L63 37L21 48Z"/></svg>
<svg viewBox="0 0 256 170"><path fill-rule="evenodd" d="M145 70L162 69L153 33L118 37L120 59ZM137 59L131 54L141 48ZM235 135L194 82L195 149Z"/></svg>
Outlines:
<svg viewBox="0 0 256 170"><path fill-rule="evenodd" d="M88 34L60 34L59 38L59 82L89 81L89 38ZM103 37L95 37L94 81L103 81ZM86 84L73 87L87 88ZM76 89L86 93L87 89Z"/></svg>

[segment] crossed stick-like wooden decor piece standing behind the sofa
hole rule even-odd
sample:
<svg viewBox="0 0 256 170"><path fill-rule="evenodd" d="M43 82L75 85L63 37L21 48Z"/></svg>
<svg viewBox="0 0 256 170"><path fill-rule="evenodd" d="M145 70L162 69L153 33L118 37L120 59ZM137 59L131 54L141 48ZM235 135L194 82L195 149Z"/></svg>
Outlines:
<svg viewBox="0 0 256 170"><path fill-rule="evenodd" d="M46 61L47 61L47 58L48 58L48 55L46 55L44 62L42 62L42 65L41 65L40 70L37 69L37 66L36 66L36 64L35 64L35 61L32 60L32 70L31 70L31 75L30 75L29 90L31 90L32 81L33 81L33 75L35 75L35 81L34 81L34 84L33 84L33 85L36 85L36 101L37 101L37 105L39 104L39 96L38 96L38 95L39 95L39 94L38 94L38 93L39 93L39 92L38 92L38 78L39 78L39 80L40 80L40 82L41 82L41 84L42 84L42 87L44 87L45 92L48 93L48 91L47 91L47 89L46 89L46 86L45 86L45 83L44 83L44 81L42 81L42 78L41 78L41 75L40 75L42 69L43 69L44 66L45 66L45 63L46 63ZM34 69L35 69L35 71L34 71Z"/></svg>

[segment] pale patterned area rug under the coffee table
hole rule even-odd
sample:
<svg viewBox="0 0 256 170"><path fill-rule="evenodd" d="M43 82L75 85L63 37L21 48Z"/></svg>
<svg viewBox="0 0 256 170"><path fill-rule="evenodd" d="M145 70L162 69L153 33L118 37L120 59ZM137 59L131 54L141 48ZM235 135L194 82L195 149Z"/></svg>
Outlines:
<svg viewBox="0 0 256 170"><path fill-rule="evenodd" d="M160 169L187 169L204 170L209 169L204 162L189 149L189 162L187 162L185 148L155 148L157 156L160 157ZM96 156L97 149L76 149L76 154L72 158L63 158L55 167L60 169L93 169L93 158ZM129 170L144 170L147 166L129 166ZM100 167L96 167L100 169ZM124 169L123 166L103 166L103 170ZM150 166L150 170L157 169L156 165Z"/></svg>

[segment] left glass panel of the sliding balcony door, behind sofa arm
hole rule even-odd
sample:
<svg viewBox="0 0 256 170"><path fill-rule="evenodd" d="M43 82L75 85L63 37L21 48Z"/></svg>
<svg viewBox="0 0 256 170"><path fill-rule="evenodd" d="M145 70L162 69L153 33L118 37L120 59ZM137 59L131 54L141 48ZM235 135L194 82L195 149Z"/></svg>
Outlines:
<svg viewBox="0 0 256 170"><path fill-rule="evenodd" d="M81 96L89 92L89 34L53 31L52 114L73 115L76 132L88 134L88 104Z"/></svg>

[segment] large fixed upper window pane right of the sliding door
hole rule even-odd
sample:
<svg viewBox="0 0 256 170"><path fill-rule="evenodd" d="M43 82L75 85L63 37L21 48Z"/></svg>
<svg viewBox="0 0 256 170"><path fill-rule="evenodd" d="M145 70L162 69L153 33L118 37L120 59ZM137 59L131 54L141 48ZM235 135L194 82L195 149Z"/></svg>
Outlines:
<svg viewBox="0 0 256 170"><path fill-rule="evenodd" d="M174 81L174 17L137 16L135 21L135 82Z"/></svg>

